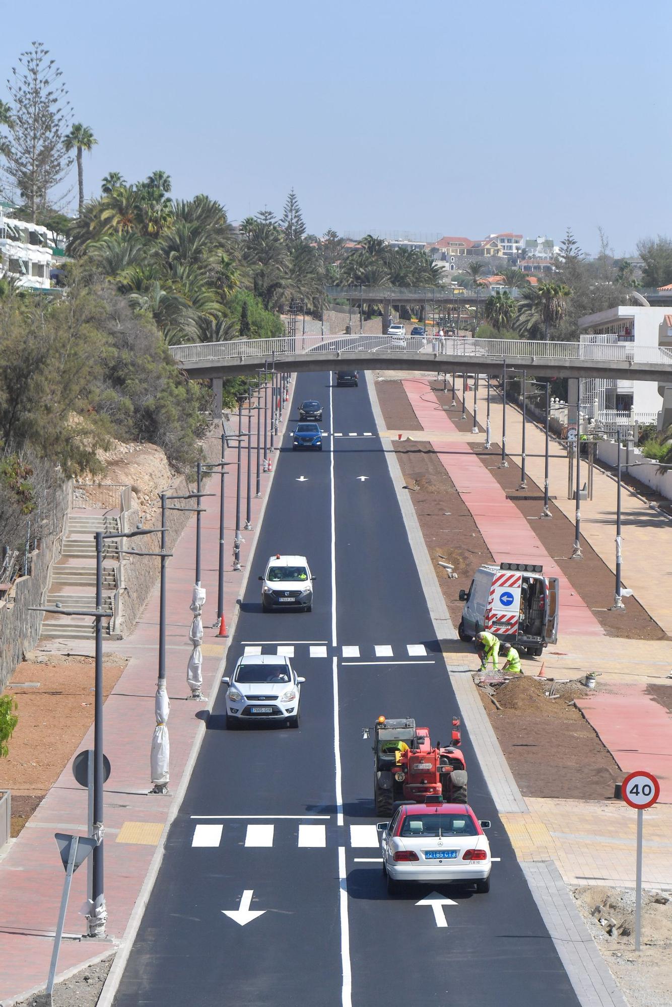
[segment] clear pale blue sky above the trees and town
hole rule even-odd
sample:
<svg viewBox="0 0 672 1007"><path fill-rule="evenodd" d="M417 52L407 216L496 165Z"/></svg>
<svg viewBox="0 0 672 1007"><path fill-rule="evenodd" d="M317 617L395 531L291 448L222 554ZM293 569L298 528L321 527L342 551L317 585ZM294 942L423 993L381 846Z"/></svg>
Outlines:
<svg viewBox="0 0 672 1007"><path fill-rule="evenodd" d="M61 0L2 14L2 68L37 38L111 170L168 171L232 220L556 242L617 255L671 234L668 0ZM4 88L0 97L6 98ZM75 175L73 176L75 181Z"/></svg>

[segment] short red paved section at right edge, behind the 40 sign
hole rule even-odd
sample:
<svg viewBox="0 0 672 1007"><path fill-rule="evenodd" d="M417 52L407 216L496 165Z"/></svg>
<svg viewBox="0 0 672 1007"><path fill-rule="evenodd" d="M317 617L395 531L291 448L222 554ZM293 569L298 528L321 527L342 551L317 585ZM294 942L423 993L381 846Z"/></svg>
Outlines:
<svg viewBox="0 0 672 1007"><path fill-rule="evenodd" d="M648 769L660 782L660 801L672 804L672 717L646 685L613 686L576 700L624 772Z"/></svg>

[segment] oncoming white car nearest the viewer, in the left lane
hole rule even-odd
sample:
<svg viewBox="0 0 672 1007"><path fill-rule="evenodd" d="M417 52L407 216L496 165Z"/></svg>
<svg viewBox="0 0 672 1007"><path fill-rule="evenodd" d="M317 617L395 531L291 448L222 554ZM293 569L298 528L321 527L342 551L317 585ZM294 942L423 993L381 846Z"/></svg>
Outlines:
<svg viewBox="0 0 672 1007"><path fill-rule="evenodd" d="M289 658L275 654L246 654L239 659L227 689L227 727L253 720L285 720L298 727L301 685Z"/></svg>

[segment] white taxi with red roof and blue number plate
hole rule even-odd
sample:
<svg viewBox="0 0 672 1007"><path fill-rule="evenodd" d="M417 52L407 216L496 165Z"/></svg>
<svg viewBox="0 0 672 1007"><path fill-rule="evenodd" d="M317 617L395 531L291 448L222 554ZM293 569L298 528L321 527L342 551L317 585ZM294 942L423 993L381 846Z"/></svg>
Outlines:
<svg viewBox="0 0 672 1007"><path fill-rule="evenodd" d="M383 870L390 894L404 881L476 883L490 891L492 859L484 829L468 805L404 804L391 822L380 822Z"/></svg>

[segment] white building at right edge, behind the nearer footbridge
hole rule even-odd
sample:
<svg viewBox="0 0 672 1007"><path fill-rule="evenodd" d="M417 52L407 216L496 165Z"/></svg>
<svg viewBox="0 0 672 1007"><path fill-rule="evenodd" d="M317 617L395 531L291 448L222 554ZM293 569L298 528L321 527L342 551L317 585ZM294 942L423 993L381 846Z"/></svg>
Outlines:
<svg viewBox="0 0 672 1007"><path fill-rule="evenodd" d="M665 345L670 333L670 308L626 305L598 311L578 319L581 342L634 342L638 346ZM663 408L665 386L648 381L621 379L584 379L581 382L581 403L584 415L615 422L634 413L638 423L657 423Z"/></svg>

